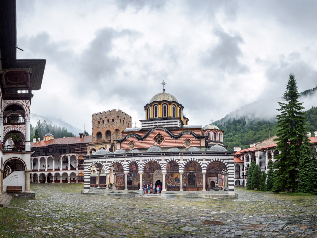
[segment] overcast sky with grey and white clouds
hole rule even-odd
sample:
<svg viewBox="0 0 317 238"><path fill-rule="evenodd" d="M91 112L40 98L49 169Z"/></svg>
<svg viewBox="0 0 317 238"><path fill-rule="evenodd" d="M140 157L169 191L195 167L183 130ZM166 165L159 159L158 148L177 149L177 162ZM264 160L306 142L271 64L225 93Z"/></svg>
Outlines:
<svg viewBox="0 0 317 238"><path fill-rule="evenodd" d="M317 86L314 0L16 2L17 58L47 60L31 112L89 133L111 109L140 126L163 80L191 125L276 101L290 72L300 92Z"/></svg>

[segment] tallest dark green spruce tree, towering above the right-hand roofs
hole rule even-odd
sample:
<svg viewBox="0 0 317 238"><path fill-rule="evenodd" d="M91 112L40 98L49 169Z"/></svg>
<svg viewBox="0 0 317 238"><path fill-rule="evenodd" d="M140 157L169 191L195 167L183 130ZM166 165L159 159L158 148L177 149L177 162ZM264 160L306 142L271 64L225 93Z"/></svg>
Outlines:
<svg viewBox="0 0 317 238"><path fill-rule="evenodd" d="M275 156L275 183L273 192L297 190L297 168L302 156L301 146L306 137L305 112L302 103L298 101L296 79L293 73L289 75L286 91L283 94L285 102L279 102L281 112L276 116L277 136L276 150L280 154Z"/></svg>

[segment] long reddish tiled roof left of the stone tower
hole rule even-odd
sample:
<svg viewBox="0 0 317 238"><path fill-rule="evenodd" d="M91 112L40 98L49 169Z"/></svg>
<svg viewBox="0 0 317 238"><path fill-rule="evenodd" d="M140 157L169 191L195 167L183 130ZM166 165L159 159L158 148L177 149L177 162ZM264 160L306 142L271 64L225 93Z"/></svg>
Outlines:
<svg viewBox="0 0 317 238"><path fill-rule="evenodd" d="M79 136L65 137L65 138L51 139L48 141L41 140L40 142L35 142L35 143L31 142L31 147L88 144L88 143L91 143L92 140L93 140L93 136L83 136L82 138L80 138Z"/></svg>

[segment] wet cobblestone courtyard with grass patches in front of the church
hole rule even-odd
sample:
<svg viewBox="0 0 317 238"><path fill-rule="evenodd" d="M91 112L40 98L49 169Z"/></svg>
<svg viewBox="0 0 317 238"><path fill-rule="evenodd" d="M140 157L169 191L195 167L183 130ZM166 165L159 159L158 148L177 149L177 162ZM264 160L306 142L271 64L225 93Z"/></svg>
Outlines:
<svg viewBox="0 0 317 238"><path fill-rule="evenodd" d="M0 237L317 238L317 196L236 188L234 200L127 198L82 189L31 184L36 200L0 208Z"/></svg>

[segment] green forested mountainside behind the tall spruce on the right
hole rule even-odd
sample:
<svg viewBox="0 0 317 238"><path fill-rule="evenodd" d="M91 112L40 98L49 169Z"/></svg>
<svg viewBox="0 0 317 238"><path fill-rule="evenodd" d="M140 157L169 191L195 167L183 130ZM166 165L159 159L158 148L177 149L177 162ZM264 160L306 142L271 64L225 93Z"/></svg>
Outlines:
<svg viewBox="0 0 317 238"><path fill-rule="evenodd" d="M306 91L305 91L306 92ZM307 132L317 130L317 107L312 107L307 112L308 128ZM275 120L248 119L240 117L238 119L220 119L214 125L223 130L223 144L228 145L228 150L233 151L234 146L246 149L250 144L263 141L276 134Z"/></svg>

